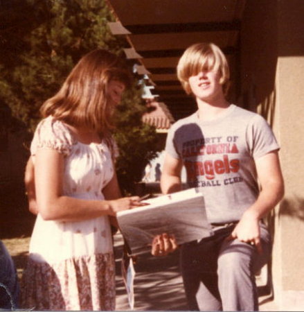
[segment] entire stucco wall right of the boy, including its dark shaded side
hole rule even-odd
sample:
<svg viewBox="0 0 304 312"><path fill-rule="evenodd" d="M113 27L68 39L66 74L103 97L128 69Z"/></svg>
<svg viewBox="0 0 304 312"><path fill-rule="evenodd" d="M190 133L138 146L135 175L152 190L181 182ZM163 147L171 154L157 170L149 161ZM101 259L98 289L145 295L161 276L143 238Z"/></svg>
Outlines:
<svg viewBox="0 0 304 312"><path fill-rule="evenodd" d="M249 0L241 36L241 101L269 121L280 143L285 198L269 217L280 309L304 306L304 1Z"/></svg>

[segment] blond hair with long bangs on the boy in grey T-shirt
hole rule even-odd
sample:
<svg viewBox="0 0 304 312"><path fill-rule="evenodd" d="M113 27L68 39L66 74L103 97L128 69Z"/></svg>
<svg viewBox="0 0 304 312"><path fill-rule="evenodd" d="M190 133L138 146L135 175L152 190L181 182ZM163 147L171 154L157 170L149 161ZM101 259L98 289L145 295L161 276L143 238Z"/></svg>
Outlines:
<svg viewBox="0 0 304 312"><path fill-rule="evenodd" d="M229 66L224 53L213 43L193 44L181 55L177 64L177 77L187 94L192 93L188 82L190 76L195 76L202 70L218 71L223 92L228 92Z"/></svg>

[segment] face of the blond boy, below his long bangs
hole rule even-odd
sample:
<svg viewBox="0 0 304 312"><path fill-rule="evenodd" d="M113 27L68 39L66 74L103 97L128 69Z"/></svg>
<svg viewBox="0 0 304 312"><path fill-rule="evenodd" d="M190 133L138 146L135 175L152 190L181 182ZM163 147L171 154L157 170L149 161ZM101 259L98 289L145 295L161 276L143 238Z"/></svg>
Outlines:
<svg viewBox="0 0 304 312"><path fill-rule="evenodd" d="M188 82L195 97L202 101L212 101L222 94L218 71L202 69L196 75L190 76Z"/></svg>

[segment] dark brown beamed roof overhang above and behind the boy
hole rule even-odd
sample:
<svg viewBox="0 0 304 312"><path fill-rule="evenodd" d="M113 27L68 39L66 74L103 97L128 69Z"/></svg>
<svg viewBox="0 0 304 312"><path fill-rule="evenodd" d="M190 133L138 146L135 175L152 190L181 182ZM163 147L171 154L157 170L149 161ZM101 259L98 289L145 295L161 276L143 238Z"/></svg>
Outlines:
<svg viewBox="0 0 304 312"><path fill-rule="evenodd" d="M127 58L150 78L152 94L175 120L196 110L177 80L177 62L197 42L213 42L226 54L231 80L238 77L239 33L246 0L107 0L116 15L112 33L125 35ZM235 84L233 84L235 86ZM237 90L231 89L231 96Z"/></svg>

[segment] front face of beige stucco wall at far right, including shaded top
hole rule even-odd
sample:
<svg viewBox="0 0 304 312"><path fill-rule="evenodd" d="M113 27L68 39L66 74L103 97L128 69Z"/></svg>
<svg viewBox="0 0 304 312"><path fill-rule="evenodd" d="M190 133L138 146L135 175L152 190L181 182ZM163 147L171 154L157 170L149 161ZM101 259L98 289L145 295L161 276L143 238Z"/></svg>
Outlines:
<svg viewBox="0 0 304 312"><path fill-rule="evenodd" d="M280 207L283 291L304 306L304 1L278 1L278 102L285 200ZM302 299L296 298L296 292ZM287 302L283 302L286 304Z"/></svg>

